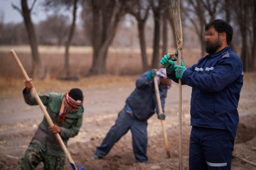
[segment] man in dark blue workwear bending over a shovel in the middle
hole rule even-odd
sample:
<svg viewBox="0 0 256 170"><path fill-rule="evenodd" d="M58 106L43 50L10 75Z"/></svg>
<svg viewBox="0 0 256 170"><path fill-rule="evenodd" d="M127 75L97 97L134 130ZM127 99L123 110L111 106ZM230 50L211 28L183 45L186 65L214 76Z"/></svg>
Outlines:
<svg viewBox="0 0 256 170"><path fill-rule="evenodd" d="M158 118L165 119L164 113L159 113L154 90L153 77L154 70L144 72L136 81L136 88L126 100L122 111L119 112L115 124L110 128L100 147L97 147L92 159L100 159L110 152L114 144L125 135L128 130L132 132L132 145L136 162L147 162L147 121L151 115L158 114ZM159 69L161 74L166 75L166 69ZM171 87L171 80L165 77L157 77L159 83L159 93L161 106L164 112L164 103L167 89Z"/></svg>

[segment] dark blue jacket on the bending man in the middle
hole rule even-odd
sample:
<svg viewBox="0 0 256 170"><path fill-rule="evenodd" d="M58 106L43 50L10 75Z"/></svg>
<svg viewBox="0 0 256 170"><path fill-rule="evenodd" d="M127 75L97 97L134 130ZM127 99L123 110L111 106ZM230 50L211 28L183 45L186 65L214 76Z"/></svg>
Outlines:
<svg viewBox="0 0 256 170"><path fill-rule="evenodd" d="M126 103L131 108L132 113L139 120L148 120L151 115L159 114L159 109L156 101L156 92L154 89L154 81L149 80L149 72L144 72L136 81L136 88L127 98ZM167 86L159 84L159 94L161 98L161 107L164 112L164 103L167 95Z"/></svg>

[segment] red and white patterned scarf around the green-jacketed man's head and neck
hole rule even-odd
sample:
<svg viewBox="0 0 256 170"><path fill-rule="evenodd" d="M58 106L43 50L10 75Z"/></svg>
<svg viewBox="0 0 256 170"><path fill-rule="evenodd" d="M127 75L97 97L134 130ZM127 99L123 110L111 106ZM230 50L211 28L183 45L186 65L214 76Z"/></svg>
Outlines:
<svg viewBox="0 0 256 170"><path fill-rule="evenodd" d="M84 96L82 96L82 101L78 100L75 101L73 98L71 98L69 94L70 90L65 92L65 95L63 97L63 101L60 106L60 112L57 120L57 125L60 121L60 118L62 118L62 124L64 123L65 115L68 113L74 113L78 111L78 108L82 106Z"/></svg>

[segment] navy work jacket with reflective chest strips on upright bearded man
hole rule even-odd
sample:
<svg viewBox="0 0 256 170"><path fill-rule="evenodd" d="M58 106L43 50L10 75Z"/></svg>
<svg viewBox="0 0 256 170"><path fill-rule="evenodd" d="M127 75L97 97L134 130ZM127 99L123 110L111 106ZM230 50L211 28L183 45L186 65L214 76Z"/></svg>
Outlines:
<svg viewBox="0 0 256 170"><path fill-rule="evenodd" d="M178 82L175 72L167 76ZM183 72L181 81L192 87L192 126L237 130L243 72L242 62L230 46L202 57Z"/></svg>

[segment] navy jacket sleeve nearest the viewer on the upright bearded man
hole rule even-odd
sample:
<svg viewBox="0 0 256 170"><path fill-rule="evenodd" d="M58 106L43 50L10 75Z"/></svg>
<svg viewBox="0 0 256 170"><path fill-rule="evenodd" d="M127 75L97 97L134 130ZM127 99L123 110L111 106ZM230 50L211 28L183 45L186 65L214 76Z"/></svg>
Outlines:
<svg viewBox="0 0 256 170"><path fill-rule="evenodd" d="M198 74L189 68L183 73L182 82L206 92L221 91L242 74L239 57L223 57L210 74Z"/></svg>

